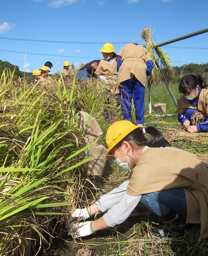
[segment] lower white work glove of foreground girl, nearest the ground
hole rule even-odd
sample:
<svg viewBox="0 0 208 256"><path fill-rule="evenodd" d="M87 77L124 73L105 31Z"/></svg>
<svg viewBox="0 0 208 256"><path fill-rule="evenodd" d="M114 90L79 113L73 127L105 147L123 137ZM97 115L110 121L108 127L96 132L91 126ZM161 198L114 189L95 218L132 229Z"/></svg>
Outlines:
<svg viewBox="0 0 208 256"><path fill-rule="evenodd" d="M74 235L76 238L80 236L91 235L93 233L96 233L96 231L93 231L91 228L92 222L93 221L85 221L69 224L69 229L67 230L67 232L69 235Z"/></svg>

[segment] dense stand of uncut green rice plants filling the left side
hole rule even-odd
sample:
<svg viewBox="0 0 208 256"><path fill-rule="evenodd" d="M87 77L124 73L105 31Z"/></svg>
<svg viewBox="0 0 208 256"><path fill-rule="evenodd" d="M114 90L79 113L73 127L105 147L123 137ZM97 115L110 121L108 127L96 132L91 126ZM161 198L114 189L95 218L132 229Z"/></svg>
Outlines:
<svg viewBox="0 0 208 256"><path fill-rule="evenodd" d="M104 96L95 83L77 86L75 77L55 77L48 87L14 82L13 74L0 80L0 255L36 255L49 246L54 225L65 229L70 206L86 200L93 156L78 111L99 117L95 102Z"/></svg>

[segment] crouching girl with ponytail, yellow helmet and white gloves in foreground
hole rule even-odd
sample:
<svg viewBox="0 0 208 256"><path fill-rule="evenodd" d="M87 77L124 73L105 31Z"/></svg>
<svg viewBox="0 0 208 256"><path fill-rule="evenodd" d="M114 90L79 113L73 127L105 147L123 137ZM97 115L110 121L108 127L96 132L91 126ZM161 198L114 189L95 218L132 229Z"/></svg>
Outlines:
<svg viewBox="0 0 208 256"><path fill-rule="evenodd" d="M150 141L145 134L151 135ZM86 236L122 223L140 202L159 221L152 235L182 236L187 223L201 223L201 237L208 237L208 164L196 155L170 147L154 127L139 127L130 121L113 123L107 131L106 158L114 160L130 176L119 187L101 196L95 204L76 209L69 221L69 234ZM96 220L84 221L97 212Z"/></svg>

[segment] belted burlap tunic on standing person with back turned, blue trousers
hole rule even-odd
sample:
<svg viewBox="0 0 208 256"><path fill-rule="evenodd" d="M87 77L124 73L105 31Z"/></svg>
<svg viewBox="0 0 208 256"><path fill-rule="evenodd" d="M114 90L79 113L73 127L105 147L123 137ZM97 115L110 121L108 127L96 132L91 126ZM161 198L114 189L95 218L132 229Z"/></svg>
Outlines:
<svg viewBox="0 0 208 256"><path fill-rule="evenodd" d="M146 62L151 60L149 51L134 44L124 45L117 56L121 56L121 66L118 72L118 83L136 77L144 86L146 84Z"/></svg>

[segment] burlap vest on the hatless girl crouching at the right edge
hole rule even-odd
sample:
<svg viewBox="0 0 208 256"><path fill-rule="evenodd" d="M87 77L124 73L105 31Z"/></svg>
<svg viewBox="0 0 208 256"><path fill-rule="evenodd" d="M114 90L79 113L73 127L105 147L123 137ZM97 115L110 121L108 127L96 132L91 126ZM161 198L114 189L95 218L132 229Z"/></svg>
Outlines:
<svg viewBox="0 0 208 256"><path fill-rule="evenodd" d="M208 88L202 88L198 98L198 106L193 106L183 95L177 101L178 113L184 113L188 108L204 113L208 117Z"/></svg>

